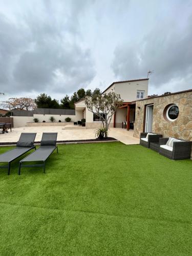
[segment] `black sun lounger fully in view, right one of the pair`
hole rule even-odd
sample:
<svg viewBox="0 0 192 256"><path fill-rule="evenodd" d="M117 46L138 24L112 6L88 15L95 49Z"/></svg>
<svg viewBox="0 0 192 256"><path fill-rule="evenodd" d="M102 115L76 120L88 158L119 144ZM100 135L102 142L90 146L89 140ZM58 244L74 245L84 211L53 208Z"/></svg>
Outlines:
<svg viewBox="0 0 192 256"><path fill-rule="evenodd" d="M40 147L28 155L26 158L20 160L18 167L18 175L20 175L21 167L44 167L44 173L46 171L46 160L58 148L56 145L57 133L43 133L40 142ZM25 164L25 162L42 162L40 164Z"/></svg>

